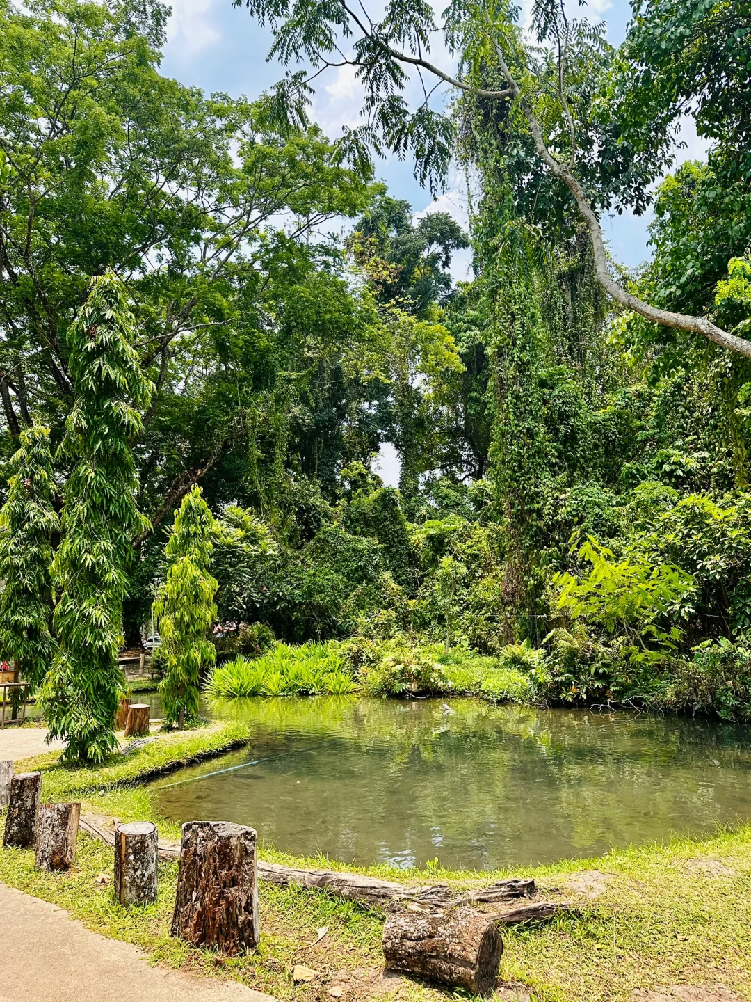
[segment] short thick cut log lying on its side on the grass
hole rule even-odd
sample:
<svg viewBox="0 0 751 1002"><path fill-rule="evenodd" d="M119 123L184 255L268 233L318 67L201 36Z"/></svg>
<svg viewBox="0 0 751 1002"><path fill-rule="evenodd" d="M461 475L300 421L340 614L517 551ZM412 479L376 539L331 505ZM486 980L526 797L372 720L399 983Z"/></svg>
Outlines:
<svg viewBox="0 0 751 1002"><path fill-rule="evenodd" d="M386 966L426 981L490 995L504 945L496 921L469 908L427 914L399 912L384 927Z"/></svg>

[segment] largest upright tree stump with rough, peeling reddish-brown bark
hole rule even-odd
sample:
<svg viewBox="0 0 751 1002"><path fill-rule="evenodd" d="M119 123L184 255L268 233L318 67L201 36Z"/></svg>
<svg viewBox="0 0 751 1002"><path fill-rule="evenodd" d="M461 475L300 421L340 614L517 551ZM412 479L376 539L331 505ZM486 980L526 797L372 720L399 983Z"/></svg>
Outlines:
<svg viewBox="0 0 751 1002"><path fill-rule="evenodd" d="M257 946L255 832L222 821L182 826L172 935L234 955Z"/></svg>

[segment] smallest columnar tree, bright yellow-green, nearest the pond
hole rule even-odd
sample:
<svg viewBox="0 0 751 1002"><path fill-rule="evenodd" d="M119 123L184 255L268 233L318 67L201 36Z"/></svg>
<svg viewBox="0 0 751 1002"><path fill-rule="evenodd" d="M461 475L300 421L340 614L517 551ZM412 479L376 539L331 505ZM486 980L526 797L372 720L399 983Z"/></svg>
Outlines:
<svg viewBox="0 0 751 1002"><path fill-rule="evenodd" d="M209 631L216 619L216 579L209 572L216 526L193 485L175 514L165 554L167 575L153 604L166 674L159 686L164 716L182 726L198 712L201 672L214 663Z"/></svg>

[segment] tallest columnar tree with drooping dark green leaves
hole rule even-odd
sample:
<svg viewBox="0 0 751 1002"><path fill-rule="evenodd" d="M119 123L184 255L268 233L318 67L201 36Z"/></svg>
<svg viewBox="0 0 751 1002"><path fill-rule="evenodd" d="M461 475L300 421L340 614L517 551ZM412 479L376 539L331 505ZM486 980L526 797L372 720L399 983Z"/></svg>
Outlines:
<svg viewBox="0 0 751 1002"><path fill-rule="evenodd" d="M152 386L134 335L123 284L112 273L95 278L68 332L76 400L61 446L71 472L52 564L58 648L41 696L68 761L101 762L115 746L126 568L131 540L147 524L135 502L130 442L141 431L139 408L148 406Z"/></svg>

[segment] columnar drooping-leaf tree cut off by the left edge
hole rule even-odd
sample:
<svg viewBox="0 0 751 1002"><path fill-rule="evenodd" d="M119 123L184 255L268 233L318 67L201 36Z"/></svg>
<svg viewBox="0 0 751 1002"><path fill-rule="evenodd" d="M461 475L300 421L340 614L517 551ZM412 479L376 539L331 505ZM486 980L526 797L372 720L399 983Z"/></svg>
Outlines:
<svg viewBox="0 0 751 1002"><path fill-rule="evenodd" d="M0 511L0 649L21 661L33 688L50 666L51 536L59 527L52 507L55 478L49 430L35 424L21 432L10 461L8 499Z"/></svg>

